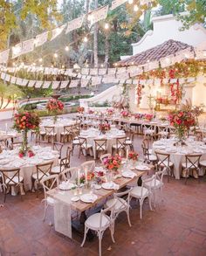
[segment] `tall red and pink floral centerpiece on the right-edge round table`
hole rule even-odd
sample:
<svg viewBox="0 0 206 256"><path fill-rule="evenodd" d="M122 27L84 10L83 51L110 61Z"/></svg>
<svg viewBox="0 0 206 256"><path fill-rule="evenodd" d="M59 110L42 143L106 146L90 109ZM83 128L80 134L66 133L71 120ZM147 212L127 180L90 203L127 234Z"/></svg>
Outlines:
<svg viewBox="0 0 206 256"><path fill-rule="evenodd" d="M189 128L196 125L195 115L190 110L174 110L168 114L168 121L175 128L176 135L182 143Z"/></svg>

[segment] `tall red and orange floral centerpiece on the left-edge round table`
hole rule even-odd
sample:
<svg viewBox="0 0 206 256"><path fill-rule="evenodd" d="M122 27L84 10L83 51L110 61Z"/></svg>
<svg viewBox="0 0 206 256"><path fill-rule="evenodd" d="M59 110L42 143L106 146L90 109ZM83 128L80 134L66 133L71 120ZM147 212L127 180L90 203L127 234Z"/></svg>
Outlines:
<svg viewBox="0 0 206 256"><path fill-rule="evenodd" d="M28 139L27 134L28 131L33 130L39 131L40 119L38 114L33 112L23 112L15 114L14 116L14 125L13 128L17 130L17 132L21 132L23 134L23 143L21 149L19 151L19 156L24 156L26 152L29 151L28 147ZM30 154L31 155L31 154Z"/></svg>

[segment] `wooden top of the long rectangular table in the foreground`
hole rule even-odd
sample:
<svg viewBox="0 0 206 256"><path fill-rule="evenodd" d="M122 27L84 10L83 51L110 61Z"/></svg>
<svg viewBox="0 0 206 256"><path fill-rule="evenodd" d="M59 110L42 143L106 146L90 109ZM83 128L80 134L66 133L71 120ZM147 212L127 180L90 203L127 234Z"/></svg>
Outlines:
<svg viewBox="0 0 206 256"><path fill-rule="evenodd" d="M151 166L150 166L151 167ZM127 186L128 183L137 181L140 176L146 174L148 170L139 171L139 170L133 170L134 173L136 173L137 176L134 176L134 178L125 178L123 176L116 178L113 182L119 184L120 189ZM77 189L76 189L77 190ZM82 191L82 194L89 193L91 190L84 190ZM75 211L86 211L89 208L95 206L96 204L100 203L101 200L105 199L106 197L109 197L115 193L116 190L94 190L93 194L97 195L97 200L94 203L84 203L81 200L78 202L72 202L71 198L74 197L74 190L59 190L58 188L52 189L47 191L47 196L52 197L54 199L60 200L65 204L71 204L71 207Z"/></svg>

